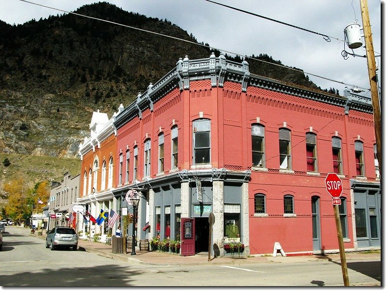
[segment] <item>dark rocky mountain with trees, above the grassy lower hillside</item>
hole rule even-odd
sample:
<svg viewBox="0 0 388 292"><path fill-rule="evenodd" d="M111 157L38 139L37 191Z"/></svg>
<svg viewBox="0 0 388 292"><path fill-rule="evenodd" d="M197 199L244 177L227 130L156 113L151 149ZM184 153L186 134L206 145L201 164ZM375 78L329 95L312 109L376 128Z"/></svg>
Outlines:
<svg viewBox="0 0 388 292"><path fill-rule="evenodd" d="M196 42L166 19L106 2L76 13ZM179 57L210 56L203 46L72 14L17 26L0 21L0 50L0 152L65 157L77 156L93 110L112 116ZM281 64L267 54L256 58ZM318 88L301 72L248 61L255 74Z"/></svg>

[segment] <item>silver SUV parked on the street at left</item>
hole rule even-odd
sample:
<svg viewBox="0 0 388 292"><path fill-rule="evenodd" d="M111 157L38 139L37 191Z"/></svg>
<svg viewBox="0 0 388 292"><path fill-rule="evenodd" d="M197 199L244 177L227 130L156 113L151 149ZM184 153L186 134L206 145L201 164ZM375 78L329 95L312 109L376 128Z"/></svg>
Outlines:
<svg viewBox="0 0 388 292"><path fill-rule="evenodd" d="M74 228L66 226L56 226L51 229L46 237L46 248L54 250L56 247L71 247L77 250L78 235Z"/></svg>

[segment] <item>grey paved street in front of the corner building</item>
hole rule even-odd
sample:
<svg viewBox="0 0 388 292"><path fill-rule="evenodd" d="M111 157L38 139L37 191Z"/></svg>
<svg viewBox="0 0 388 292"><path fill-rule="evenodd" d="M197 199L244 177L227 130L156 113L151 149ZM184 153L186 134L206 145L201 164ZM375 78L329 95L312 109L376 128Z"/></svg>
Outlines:
<svg viewBox="0 0 388 292"><path fill-rule="evenodd" d="M109 258L111 247L101 243L80 240L79 246L85 248L78 251L51 251L45 248L44 238L32 236L28 228L7 226L3 235L0 285L4 287L343 286L340 262L335 257L220 258L208 262L207 256L138 252L138 256L113 259ZM349 256L351 286L380 286L379 256ZM179 264L183 259L196 263Z"/></svg>

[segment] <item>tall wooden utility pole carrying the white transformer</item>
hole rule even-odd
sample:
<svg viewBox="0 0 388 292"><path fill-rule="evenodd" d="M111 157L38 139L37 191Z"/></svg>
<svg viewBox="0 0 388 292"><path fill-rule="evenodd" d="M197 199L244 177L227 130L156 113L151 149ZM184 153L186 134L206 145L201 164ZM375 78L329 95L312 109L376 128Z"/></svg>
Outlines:
<svg viewBox="0 0 388 292"><path fill-rule="evenodd" d="M376 137L377 161L379 163L380 180L381 169L383 168L381 161L381 111L379 102L379 93L376 76L376 62L374 60L373 42L371 23L369 21L368 3L367 0L360 0L362 26L364 29L365 49L368 61L369 83L371 85L374 134Z"/></svg>

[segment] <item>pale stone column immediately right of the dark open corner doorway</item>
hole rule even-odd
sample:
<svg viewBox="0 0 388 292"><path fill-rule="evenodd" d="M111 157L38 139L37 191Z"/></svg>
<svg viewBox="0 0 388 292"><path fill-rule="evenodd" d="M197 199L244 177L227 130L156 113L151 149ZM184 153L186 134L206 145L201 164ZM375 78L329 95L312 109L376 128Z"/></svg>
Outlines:
<svg viewBox="0 0 388 292"><path fill-rule="evenodd" d="M213 244L220 251L219 255L224 256L224 181L213 181ZM214 256L215 249L211 245L211 254ZM217 252L217 250L216 250Z"/></svg>

